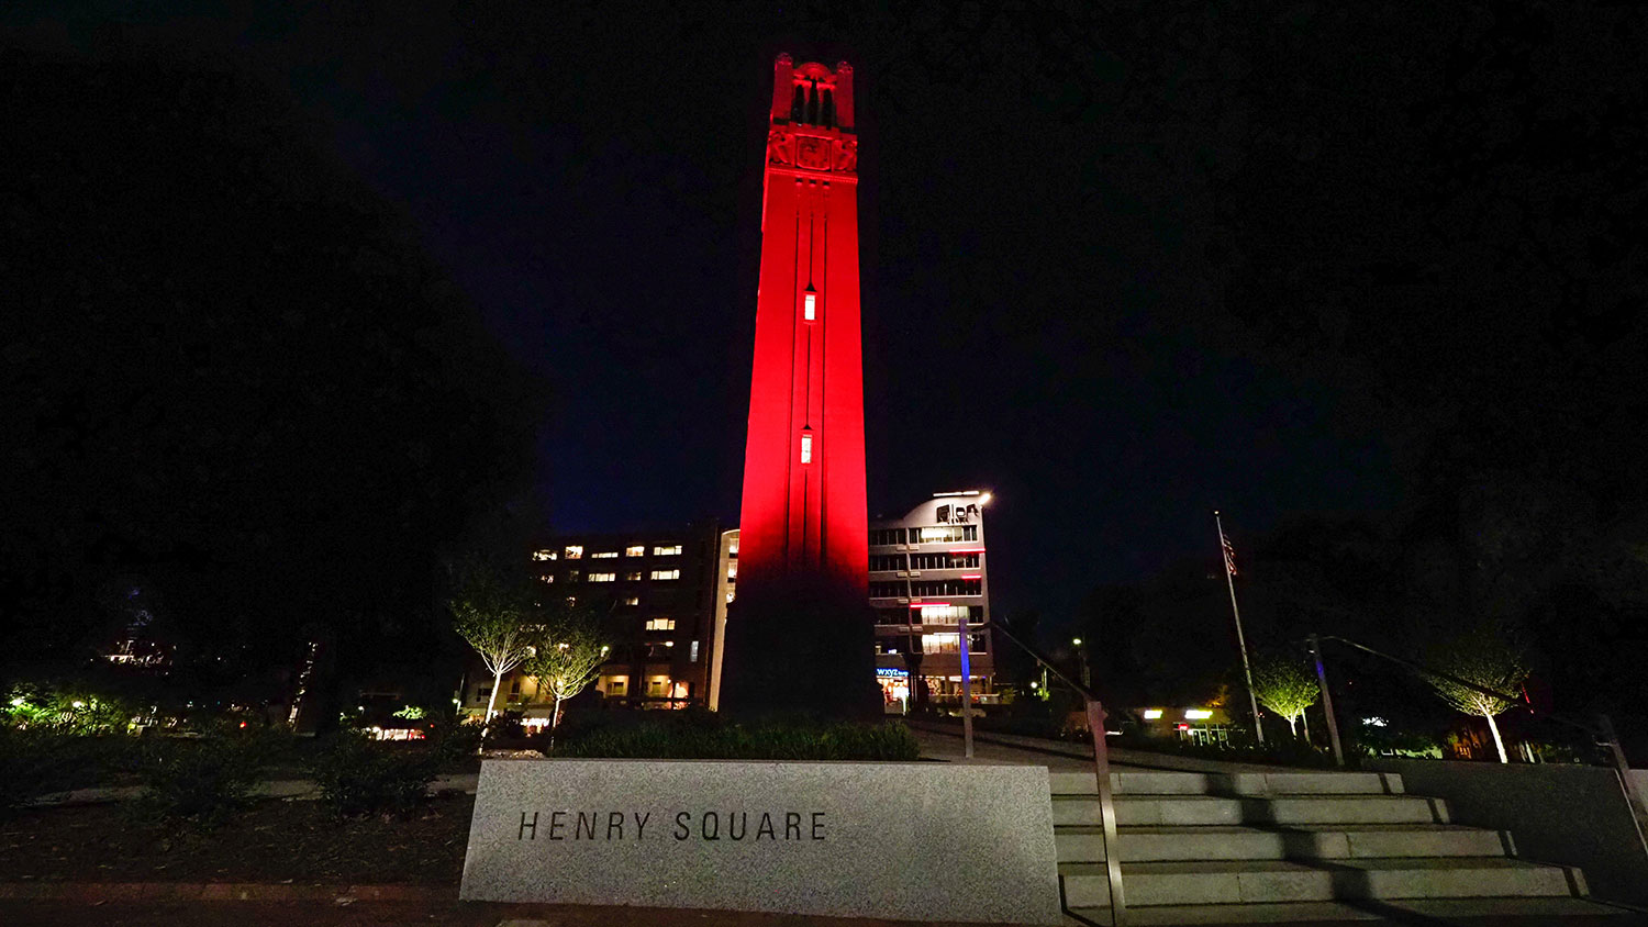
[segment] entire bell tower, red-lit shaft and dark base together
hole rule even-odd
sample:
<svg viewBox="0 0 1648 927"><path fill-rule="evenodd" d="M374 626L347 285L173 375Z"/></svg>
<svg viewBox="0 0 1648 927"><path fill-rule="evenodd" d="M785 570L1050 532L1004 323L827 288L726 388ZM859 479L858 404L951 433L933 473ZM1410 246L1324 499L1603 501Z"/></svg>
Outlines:
<svg viewBox="0 0 1648 927"><path fill-rule="evenodd" d="M738 599L720 705L878 716L852 68L773 68Z"/></svg>

